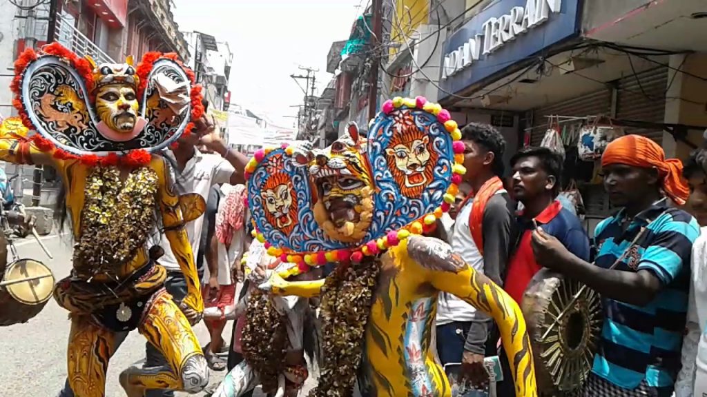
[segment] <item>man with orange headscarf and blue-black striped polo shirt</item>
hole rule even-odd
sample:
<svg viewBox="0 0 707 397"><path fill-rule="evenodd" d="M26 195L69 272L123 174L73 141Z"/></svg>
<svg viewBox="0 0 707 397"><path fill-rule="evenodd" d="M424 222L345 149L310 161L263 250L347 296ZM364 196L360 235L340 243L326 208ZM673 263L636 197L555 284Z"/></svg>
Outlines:
<svg viewBox="0 0 707 397"><path fill-rule="evenodd" d="M602 296L604 324L584 396L671 396L680 367L691 246L699 225L682 205L682 162L655 142L623 136L602 156L604 188L621 210L595 230L587 263L538 228L535 255Z"/></svg>

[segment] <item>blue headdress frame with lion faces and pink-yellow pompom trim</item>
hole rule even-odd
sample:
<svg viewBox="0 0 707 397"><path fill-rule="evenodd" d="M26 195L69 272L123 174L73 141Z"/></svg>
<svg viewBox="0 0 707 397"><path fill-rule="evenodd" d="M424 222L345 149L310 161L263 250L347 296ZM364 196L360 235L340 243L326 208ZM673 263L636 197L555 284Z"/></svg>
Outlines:
<svg viewBox="0 0 707 397"><path fill-rule="evenodd" d="M462 134L450 112L424 97L395 97L382 105L369 131L363 144L352 146L351 154L361 155L364 168L370 168L364 172L370 173L375 185L374 213L366 237L354 244L331 239L315 222L312 207L317 192L310 168L301 166L302 155L296 146L265 148L248 162L245 175L254 236L264 242L268 254L298 264L282 275L295 275L329 262L360 262L365 256L377 255L410 235L430 230L454 203L466 170L462 165ZM351 145L349 136L341 140ZM422 150L428 151L425 156L429 168L416 180L426 178L426 184L406 189L404 174L392 170L397 167L395 148L404 152L406 145L411 148L411 144L421 143ZM314 157L310 155L310 160ZM264 204L266 195L278 195L271 202L271 209L277 208L274 213Z"/></svg>

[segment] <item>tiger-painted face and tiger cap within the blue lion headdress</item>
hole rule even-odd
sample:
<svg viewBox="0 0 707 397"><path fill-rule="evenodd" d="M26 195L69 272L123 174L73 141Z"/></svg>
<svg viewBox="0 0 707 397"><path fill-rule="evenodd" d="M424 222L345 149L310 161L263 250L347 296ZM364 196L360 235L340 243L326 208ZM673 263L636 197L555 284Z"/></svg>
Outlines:
<svg viewBox="0 0 707 397"><path fill-rule="evenodd" d="M314 216L329 237L341 242L363 239L373 217L373 177L363 156L366 138L356 124L332 146L313 153L308 162L310 178L319 200Z"/></svg>

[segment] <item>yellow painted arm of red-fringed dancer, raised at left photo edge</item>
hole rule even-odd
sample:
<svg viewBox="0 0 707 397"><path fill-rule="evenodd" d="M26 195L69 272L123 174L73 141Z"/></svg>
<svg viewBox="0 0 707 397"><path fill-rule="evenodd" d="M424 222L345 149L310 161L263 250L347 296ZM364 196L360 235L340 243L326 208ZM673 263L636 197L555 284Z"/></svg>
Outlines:
<svg viewBox="0 0 707 397"><path fill-rule="evenodd" d="M54 165L61 168L52 153L42 152L31 141L25 139L29 130L20 119L11 117L0 124L0 160L13 164Z"/></svg>

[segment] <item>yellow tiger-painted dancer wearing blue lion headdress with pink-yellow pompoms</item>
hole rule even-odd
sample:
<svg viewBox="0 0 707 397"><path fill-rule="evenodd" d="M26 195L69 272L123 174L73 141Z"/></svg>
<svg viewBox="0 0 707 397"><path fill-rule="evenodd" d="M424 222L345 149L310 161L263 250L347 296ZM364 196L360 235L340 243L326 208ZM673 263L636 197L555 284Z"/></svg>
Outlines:
<svg viewBox="0 0 707 397"><path fill-rule="evenodd" d="M298 263L262 288L320 296L322 369L313 396L363 393L450 396L434 348L440 291L493 317L513 367L515 394L537 396L522 313L498 285L449 245L422 237L455 201L465 170L461 132L439 105L395 98L368 137L349 134L325 151L262 150L246 166L257 238ZM339 263L326 280L286 281Z"/></svg>

